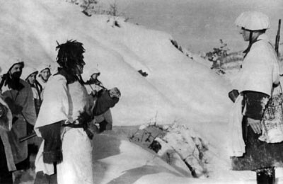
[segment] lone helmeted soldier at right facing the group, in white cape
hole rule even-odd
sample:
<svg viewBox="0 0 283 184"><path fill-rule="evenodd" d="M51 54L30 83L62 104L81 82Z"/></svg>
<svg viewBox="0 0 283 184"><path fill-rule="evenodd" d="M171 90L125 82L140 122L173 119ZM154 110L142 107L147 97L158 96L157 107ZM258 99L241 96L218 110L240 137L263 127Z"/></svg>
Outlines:
<svg viewBox="0 0 283 184"><path fill-rule="evenodd" d="M277 54L265 34L270 21L264 13L250 11L238 16L235 23L248 47L233 84L240 95L231 118L232 167L256 171L258 183L275 183L274 167L282 165L283 143L270 144L261 123L273 86L279 84Z"/></svg>

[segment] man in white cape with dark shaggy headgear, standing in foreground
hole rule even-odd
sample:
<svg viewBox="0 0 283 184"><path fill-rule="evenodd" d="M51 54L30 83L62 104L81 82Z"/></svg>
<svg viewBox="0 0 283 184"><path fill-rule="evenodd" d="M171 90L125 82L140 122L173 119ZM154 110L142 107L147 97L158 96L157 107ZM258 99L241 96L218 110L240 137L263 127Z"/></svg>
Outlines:
<svg viewBox="0 0 283 184"><path fill-rule="evenodd" d="M45 87L35 124L44 139L35 160L35 184L92 184L91 100L81 80L85 50L72 40L57 49L59 68Z"/></svg>

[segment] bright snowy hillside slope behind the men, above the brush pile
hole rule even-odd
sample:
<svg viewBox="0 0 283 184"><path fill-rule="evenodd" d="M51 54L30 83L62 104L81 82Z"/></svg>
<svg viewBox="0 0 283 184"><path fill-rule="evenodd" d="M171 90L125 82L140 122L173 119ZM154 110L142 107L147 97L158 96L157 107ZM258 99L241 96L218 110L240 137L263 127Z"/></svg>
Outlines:
<svg viewBox="0 0 283 184"><path fill-rule="evenodd" d="M54 63L56 41L83 42L86 69L98 67L103 84L122 91L112 110L116 125L138 125L154 117L159 123L226 120L229 84L176 50L171 35L122 18L87 17L64 1L1 1L0 8L0 41L9 43L1 49L1 61L17 55L35 67ZM141 76L139 69L149 76Z"/></svg>

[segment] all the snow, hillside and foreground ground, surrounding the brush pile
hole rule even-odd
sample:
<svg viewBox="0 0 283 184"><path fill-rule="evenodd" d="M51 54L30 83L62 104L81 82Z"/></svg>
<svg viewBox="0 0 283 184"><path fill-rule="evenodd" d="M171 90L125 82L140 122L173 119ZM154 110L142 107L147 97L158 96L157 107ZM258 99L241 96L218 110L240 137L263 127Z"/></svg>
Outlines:
<svg viewBox="0 0 283 184"><path fill-rule="evenodd" d="M55 67L57 42L73 39L86 48L85 71L97 67L106 87L120 88L122 98L112 108L115 129L93 140L97 183L255 183L254 173L229 170L231 84L197 55L191 59L177 50L171 35L123 18L88 17L65 1L0 2L1 66L17 55L33 67ZM140 69L149 75L141 76ZM197 132L208 144L209 177L185 177L153 151L129 142L149 122L176 122Z"/></svg>

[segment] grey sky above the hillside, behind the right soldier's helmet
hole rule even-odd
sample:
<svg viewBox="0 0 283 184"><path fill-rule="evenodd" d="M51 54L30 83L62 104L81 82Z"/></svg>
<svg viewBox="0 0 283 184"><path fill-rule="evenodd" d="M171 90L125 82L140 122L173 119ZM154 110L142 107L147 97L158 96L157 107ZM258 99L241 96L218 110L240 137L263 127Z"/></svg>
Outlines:
<svg viewBox="0 0 283 184"><path fill-rule="evenodd" d="M243 11L262 11L270 17L267 35L273 42L278 19L283 19L282 0L105 0L113 1L130 22L166 31L193 52L212 50L220 45L219 39L232 51L244 50L248 43L233 24Z"/></svg>

